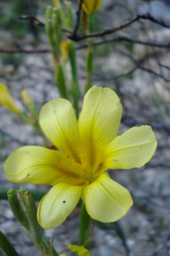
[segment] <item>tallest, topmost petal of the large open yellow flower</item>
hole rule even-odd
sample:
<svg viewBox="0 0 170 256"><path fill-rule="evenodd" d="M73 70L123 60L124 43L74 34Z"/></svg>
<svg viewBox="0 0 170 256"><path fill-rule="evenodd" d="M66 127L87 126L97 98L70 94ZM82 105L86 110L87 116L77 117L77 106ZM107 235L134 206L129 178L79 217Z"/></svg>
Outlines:
<svg viewBox="0 0 170 256"><path fill-rule="evenodd" d="M91 168L101 162L105 146L116 137L121 116L120 99L111 89L93 86L85 95L79 131Z"/></svg>

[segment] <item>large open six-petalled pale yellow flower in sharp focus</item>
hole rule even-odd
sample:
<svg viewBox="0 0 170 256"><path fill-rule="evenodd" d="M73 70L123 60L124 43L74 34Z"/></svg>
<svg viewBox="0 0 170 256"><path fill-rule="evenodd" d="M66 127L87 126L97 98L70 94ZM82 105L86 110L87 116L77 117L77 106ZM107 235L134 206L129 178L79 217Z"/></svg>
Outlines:
<svg viewBox="0 0 170 256"><path fill-rule="evenodd" d="M101 222L117 221L128 212L133 204L129 191L106 170L141 167L154 155L157 141L148 125L117 136L121 116L116 93L96 86L86 93L78 121L68 100L43 106L39 122L57 150L21 147L5 163L12 182L53 186L38 206L42 227L60 225L80 198L90 217Z"/></svg>

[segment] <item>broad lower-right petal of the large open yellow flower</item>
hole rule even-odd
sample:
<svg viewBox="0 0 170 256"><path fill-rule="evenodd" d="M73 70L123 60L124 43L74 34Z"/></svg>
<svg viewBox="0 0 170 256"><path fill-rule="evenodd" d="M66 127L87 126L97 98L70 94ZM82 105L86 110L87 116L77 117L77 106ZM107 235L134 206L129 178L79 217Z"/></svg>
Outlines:
<svg viewBox="0 0 170 256"><path fill-rule="evenodd" d="M84 189L83 201L91 218L101 222L121 219L133 204L129 191L106 173Z"/></svg>

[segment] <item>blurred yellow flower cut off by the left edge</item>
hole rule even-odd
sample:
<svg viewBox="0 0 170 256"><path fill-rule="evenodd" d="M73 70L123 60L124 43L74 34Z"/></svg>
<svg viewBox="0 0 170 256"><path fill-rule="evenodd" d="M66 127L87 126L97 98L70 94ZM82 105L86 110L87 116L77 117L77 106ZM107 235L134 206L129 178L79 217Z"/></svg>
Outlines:
<svg viewBox="0 0 170 256"><path fill-rule="evenodd" d="M16 106L14 99L12 98L10 91L5 84L0 83L0 105L15 114L20 114L21 110Z"/></svg>

